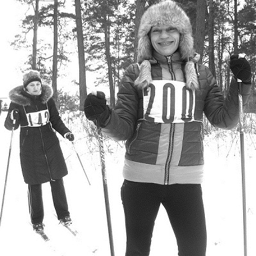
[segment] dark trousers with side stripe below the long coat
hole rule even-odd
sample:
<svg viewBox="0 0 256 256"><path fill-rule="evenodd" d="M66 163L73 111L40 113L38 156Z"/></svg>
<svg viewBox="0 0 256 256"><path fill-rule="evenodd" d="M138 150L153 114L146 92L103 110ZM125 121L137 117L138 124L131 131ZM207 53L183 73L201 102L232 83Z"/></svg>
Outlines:
<svg viewBox="0 0 256 256"><path fill-rule="evenodd" d="M65 193L63 179L51 181L51 192L54 208L58 220L65 216L70 216ZM28 202L31 222L42 223L44 220L44 204L42 198L42 184L28 185Z"/></svg>

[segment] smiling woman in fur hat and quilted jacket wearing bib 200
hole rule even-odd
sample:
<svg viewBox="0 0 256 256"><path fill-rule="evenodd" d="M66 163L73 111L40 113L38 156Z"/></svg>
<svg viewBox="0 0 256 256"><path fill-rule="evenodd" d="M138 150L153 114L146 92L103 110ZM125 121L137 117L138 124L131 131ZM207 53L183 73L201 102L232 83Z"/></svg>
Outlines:
<svg viewBox="0 0 256 256"><path fill-rule="evenodd" d="M203 113L215 127L234 128L239 122L238 85L233 77L223 97L209 69L197 63L191 31L188 16L174 1L150 6L138 32L138 63L127 68L115 109L106 106L102 92L84 102L89 120L97 120L114 140L126 140L121 189L126 256L149 255L161 204L179 255L205 255ZM243 81L246 104L250 64L232 56L230 67Z"/></svg>

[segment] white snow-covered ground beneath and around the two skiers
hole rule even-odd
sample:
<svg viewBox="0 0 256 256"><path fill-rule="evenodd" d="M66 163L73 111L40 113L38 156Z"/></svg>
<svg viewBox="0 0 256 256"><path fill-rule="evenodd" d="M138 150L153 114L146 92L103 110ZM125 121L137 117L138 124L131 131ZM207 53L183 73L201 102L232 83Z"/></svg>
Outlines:
<svg viewBox="0 0 256 256"><path fill-rule="evenodd" d="M3 124L6 112L0 116L0 200L12 132ZM67 122L65 122L67 124ZM89 186L72 143L60 138L68 175L64 178L70 213L79 234L74 237L58 224L54 216L49 183L43 185L45 233L50 241L33 232L29 224L27 185L24 183L19 162L19 131L13 132L12 154L0 227L0 255L97 255L110 256L108 226L104 204L102 175L97 141L86 138L82 125L67 126L74 132L76 151L83 161L90 179ZM239 133L223 132L205 136L205 179L203 184L205 216L207 221L207 256L243 255L243 205L241 188L241 160ZM226 134L226 136L225 136ZM246 212L248 256L256 255L256 140L245 134ZM125 225L120 187L124 144L107 141L106 170L115 255L125 255ZM0 203L1 204L1 203ZM167 245L167 246L166 246ZM157 216L150 256L177 255L177 244L168 217L161 208Z"/></svg>

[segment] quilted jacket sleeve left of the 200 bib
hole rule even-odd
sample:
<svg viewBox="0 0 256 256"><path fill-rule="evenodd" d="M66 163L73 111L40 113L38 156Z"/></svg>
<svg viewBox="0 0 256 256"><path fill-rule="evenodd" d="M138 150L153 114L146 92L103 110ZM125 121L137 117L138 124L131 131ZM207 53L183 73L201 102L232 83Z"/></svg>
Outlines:
<svg viewBox="0 0 256 256"><path fill-rule="evenodd" d="M134 132L139 106L139 95L134 81L138 74L138 65L129 65L119 85L115 109L111 111L108 124L102 128L104 134L113 140L127 140Z"/></svg>

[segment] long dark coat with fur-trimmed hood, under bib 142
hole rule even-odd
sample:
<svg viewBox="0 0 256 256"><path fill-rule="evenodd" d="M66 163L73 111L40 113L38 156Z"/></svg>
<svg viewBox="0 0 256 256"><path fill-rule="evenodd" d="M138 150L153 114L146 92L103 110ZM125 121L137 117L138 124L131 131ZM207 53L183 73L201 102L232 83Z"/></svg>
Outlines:
<svg viewBox="0 0 256 256"><path fill-rule="evenodd" d="M20 164L24 181L42 184L67 175L60 141L53 129L62 136L70 130L60 118L51 86L42 85L40 95L30 95L23 86L18 86L10 91L9 97L12 101L4 126L12 130L10 113L19 109L19 120L14 129L20 126Z"/></svg>

